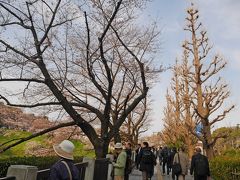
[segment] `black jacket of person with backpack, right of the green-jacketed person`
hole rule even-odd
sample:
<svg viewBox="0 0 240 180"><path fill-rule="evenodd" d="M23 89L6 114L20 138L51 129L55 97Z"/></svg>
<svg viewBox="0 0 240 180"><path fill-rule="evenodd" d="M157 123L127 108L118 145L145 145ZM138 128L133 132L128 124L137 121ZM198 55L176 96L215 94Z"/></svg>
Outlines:
<svg viewBox="0 0 240 180"><path fill-rule="evenodd" d="M156 165L156 159L155 159L155 156L154 156L153 152L151 151L152 162L148 163L148 164L144 163L142 161L142 156L143 156L144 151L151 151L151 149L148 148L148 147L145 147L145 148L141 149L141 151L139 153L140 171L146 171L152 177L153 173L154 173L154 165Z"/></svg>

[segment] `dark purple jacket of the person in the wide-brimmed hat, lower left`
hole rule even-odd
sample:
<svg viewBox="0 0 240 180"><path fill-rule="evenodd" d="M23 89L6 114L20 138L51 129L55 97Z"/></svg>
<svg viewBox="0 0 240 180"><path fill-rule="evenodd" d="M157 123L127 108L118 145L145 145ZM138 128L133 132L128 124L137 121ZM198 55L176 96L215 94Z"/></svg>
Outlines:
<svg viewBox="0 0 240 180"><path fill-rule="evenodd" d="M67 159L59 160L58 162L56 162L50 168L49 180L69 180L69 173L68 173L68 170L67 170L65 164L63 164L63 162L62 162L63 160L69 166L69 169L70 169L70 171L72 173L72 179L73 180L79 180L80 179L79 170L73 164L73 161L67 160Z"/></svg>

